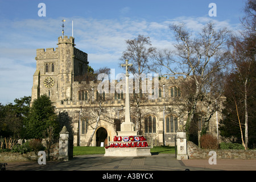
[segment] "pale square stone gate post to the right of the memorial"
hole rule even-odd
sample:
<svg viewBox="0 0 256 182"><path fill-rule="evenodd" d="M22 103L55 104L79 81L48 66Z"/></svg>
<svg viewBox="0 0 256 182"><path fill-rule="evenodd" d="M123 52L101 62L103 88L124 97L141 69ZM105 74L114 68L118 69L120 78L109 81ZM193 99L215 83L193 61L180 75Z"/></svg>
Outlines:
<svg viewBox="0 0 256 182"><path fill-rule="evenodd" d="M186 133L181 131L177 132L177 160L188 159L187 152L187 137Z"/></svg>

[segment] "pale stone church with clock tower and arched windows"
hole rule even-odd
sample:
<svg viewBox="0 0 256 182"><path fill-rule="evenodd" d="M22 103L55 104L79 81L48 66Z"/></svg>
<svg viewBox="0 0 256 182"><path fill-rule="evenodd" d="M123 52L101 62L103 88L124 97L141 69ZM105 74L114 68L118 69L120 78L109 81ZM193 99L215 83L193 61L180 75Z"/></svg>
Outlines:
<svg viewBox="0 0 256 182"><path fill-rule="evenodd" d="M77 81L77 76L86 73L89 62L88 54L75 47L75 39L72 36L60 36L57 48L36 49L35 60L32 101L46 94L55 106L56 113L68 113L72 119L74 146L87 146L94 131L90 146L108 146L108 142L113 141L125 120L125 94L118 92L120 80L111 82L110 85L114 84L115 89L106 93L97 90L102 80ZM176 132L185 125L187 119L187 113L181 112L183 104L179 100L182 95L180 83L184 79L158 77L157 86L155 81L152 83L152 79L147 80L152 84L150 94L155 97L145 97L139 104L133 99L133 91L130 92L130 119L134 123L134 130L147 138L149 145L175 145ZM130 79L130 82L133 90L134 80ZM90 122L95 118L89 117L91 113L88 108L97 109L99 105L96 101L99 98L103 98L101 107L104 107L107 114L101 114L97 123ZM221 114L216 112L208 123L207 132L214 136L217 135L216 123L220 121L220 117ZM203 125L204 115L198 115L198 132L202 130Z"/></svg>

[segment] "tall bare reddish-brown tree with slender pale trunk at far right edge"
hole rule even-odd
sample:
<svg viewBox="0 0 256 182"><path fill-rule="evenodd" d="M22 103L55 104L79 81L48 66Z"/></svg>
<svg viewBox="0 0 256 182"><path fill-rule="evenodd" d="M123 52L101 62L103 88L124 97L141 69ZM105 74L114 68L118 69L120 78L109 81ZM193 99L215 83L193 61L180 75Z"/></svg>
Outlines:
<svg viewBox="0 0 256 182"><path fill-rule="evenodd" d="M245 142L244 146L247 148L248 145L248 97L251 97L252 89L255 92L255 80L253 78L253 72L255 72L255 44L256 44L256 2L248 0L245 5L245 16L241 20L242 31L239 36L232 36L232 40L229 42L230 57L233 63L234 71L233 73L239 75L237 81L239 83L237 86L240 90L240 95L242 97L242 102L244 103L242 110L244 109L245 115ZM229 82L227 80L226 82ZM230 88L230 92L235 90ZM241 100L240 97L240 100ZM237 102L238 97L233 97L234 102ZM237 114L238 114L238 108ZM253 117L251 115L251 117ZM238 120L240 121L239 117ZM242 131L242 130L241 130ZM242 137L243 138L243 137Z"/></svg>

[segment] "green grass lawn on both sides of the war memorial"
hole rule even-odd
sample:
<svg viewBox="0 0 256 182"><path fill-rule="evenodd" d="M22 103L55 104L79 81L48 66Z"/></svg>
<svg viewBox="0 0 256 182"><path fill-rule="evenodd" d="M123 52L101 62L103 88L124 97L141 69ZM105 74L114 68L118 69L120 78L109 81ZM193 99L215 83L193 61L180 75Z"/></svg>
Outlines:
<svg viewBox="0 0 256 182"><path fill-rule="evenodd" d="M150 149L151 154L175 154L175 147L157 146ZM76 147L73 155L105 154L105 147Z"/></svg>

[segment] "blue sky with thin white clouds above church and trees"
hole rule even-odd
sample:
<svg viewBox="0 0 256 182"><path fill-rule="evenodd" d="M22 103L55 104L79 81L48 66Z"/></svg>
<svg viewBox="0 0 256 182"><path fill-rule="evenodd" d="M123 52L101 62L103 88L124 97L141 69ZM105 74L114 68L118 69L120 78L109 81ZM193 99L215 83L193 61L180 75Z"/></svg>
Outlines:
<svg viewBox="0 0 256 182"><path fill-rule="evenodd" d="M125 41L150 37L153 47L175 43L170 24L183 22L200 32L208 22L237 32L246 0L0 0L0 103L31 96L36 71L36 49L56 48L61 36L75 38L76 48L88 53L94 69L115 69L126 49ZM44 3L45 9L39 6ZM216 5L216 16L210 16ZM42 16L45 15L45 16Z"/></svg>

